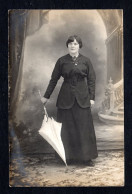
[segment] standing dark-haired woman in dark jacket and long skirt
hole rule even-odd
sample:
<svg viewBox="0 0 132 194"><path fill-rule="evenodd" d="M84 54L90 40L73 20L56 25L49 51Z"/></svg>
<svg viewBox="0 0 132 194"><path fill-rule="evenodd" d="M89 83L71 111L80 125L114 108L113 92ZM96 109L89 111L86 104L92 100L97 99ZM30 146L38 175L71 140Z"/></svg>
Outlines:
<svg viewBox="0 0 132 194"><path fill-rule="evenodd" d="M98 156L90 107L95 99L95 72L90 60L79 53L80 37L70 36L66 42L68 54L59 58L41 101L46 104L57 81L64 82L57 99L57 120L62 123L61 137L66 160L94 166Z"/></svg>

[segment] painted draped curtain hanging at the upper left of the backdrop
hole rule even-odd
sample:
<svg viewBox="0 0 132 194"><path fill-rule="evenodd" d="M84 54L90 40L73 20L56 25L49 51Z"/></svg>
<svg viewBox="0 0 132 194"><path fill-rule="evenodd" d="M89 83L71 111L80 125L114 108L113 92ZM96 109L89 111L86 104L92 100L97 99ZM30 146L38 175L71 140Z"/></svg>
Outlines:
<svg viewBox="0 0 132 194"><path fill-rule="evenodd" d="M47 10L9 11L9 112L13 117L21 89L26 37L47 22Z"/></svg>

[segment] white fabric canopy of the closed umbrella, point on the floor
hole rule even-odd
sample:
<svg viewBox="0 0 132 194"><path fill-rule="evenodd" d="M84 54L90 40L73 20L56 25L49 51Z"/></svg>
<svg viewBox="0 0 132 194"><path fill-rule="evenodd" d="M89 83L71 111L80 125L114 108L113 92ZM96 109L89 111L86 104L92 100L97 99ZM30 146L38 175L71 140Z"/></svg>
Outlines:
<svg viewBox="0 0 132 194"><path fill-rule="evenodd" d="M45 109L45 116L39 134L54 148L67 166L65 150L61 140L61 126L61 123L47 116Z"/></svg>

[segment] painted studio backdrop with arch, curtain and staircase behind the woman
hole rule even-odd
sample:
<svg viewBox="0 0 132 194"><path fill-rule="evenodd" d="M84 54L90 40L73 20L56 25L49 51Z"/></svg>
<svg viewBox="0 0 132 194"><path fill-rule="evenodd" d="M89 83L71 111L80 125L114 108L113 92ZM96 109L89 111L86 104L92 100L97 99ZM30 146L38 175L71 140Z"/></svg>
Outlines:
<svg viewBox="0 0 132 194"><path fill-rule="evenodd" d="M9 11L11 157L17 152L54 154L38 134L44 114L38 90L44 94L57 59L67 54L66 40L74 34L81 37L80 53L91 59L96 72L92 113L98 150L123 149L122 25L122 10ZM62 81L46 105L54 118Z"/></svg>

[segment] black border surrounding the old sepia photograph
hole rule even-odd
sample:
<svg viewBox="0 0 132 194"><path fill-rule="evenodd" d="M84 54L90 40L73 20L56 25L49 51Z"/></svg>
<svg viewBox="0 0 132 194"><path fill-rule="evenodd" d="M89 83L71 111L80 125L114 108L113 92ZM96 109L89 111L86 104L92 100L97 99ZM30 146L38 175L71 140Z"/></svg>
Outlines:
<svg viewBox="0 0 132 194"><path fill-rule="evenodd" d="M2 191L3 193L6 191L6 193L13 193L17 192L19 190L19 193L25 193L31 191L32 193L36 193L36 189L38 192L48 192L48 193L58 193L62 192L66 193L80 193L80 191L83 192L116 192L118 189L118 192L124 193L124 192L129 192L131 189L130 186L132 186L132 149L131 149L131 142L132 142L132 113L131 113L131 108L132 108L132 103L131 103L131 86L132 86L132 81L131 81L131 34L130 30L132 29L132 23L131 23L131 12L132 12L132 6L129 4L130 1L116 1L115 4L112 4L110 1L109 3L107 2L106 4L103 2L100 2L100 4L95 4L93 3L86 3L85 2L85 9L123 9L124 12L124 94L125 94L125 186L124 188L9 188L9 182L8 182L8 163L9 163L9 158L8 158L8 9L58 9L58 8L63 8L64 5L66 6L65 8L69 9L84 9L84 6L82 1L80 3L74 4L73 2L68 4L68 1L66 4L63 6L61 4L55 5L54 2L50 3L42 3L38 5L35 2L24 2L24 5L18 5L17 1L15 1L13 5L8 3L4 8L2 8L1 12L1 24L2 24L2 48L1 48L1 61L2 61L2 66L1 68L1 100L2 100L2 106L1 106L1 132L0 136L1 141L0 141L0 146L2 149L2 154L1 154L1 174L4 175L4 178L1 179L1 186L2 186ZM91 1L90 1L91 2ZM5 5L5 2L3 1L3 4ZM70 6L69 6L70 5ZM129 9L128 9L129 8ZM127 116L126 116L127 115ZM63 190L64 189L64 190Z"/></svg>

